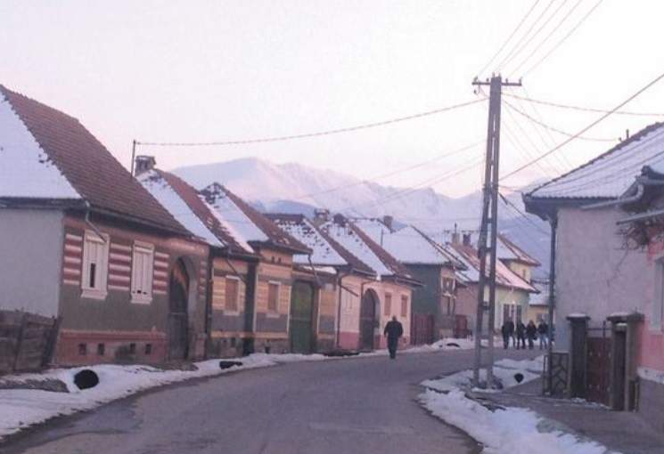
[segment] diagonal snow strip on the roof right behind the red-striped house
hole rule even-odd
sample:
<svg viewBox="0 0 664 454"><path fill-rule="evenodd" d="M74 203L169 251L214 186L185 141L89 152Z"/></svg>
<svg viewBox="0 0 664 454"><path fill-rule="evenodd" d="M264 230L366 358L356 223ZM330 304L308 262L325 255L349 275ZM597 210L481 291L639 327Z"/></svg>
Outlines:
<svg viewBox="0 0 664 454"><path fill-rule="evenodd" d="M157 199L168 213L176 218L184 228L196 237L204 239L211 246L224 247L225 244L217 239L212 231L202 223L201 219L193 212L193 209L177 194L159 172L150 170L138 176L138 181L143 184L152 197ZM214 210L213 210L214 211Z"/></svg>

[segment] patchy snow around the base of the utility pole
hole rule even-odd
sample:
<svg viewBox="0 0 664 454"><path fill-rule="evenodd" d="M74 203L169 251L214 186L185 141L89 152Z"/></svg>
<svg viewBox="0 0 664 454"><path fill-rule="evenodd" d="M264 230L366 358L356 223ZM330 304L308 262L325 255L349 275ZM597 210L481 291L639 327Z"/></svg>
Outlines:
<svg viewBox="0 0 664 454"><path fill-rule="evenodd" d="M503 389L510 388L539 378L543 368L544 356L539 356L534 360L501 360L494 364L494 377L500 380ZM517 379L520 375L521 381ZM480 380L486 382L487 369L480 370ZM457 388L471 388L472 370L462 370L446 377L424 380L422 386L441 392L452 391Z"/></svg>

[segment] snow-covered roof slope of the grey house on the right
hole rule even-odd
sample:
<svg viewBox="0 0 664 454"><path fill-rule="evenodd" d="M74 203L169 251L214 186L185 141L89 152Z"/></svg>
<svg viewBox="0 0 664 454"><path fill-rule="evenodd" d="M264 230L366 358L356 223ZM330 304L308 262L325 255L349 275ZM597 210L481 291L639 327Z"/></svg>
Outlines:
<svg viewBox="0 0 664 454"><path fill-rule="evenodd" d="M615 199L644 166L664 161L664 123L645 127L611 150L531 191L533 199Z"/></svg>

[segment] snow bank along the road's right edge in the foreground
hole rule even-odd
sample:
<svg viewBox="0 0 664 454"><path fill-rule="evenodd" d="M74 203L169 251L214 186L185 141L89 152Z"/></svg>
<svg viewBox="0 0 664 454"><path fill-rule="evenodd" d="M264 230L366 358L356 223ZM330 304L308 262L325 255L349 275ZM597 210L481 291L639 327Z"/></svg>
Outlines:
<svg viewBox="0 0 664 454"><path fill-rule="evenodd" d="M491 411L468 399L456 389L449 393L427 390L420 395L422 405L448 424L462 429L484 444L486 454L606 454L602 445L581 441L559 431L540 432L543 421L529 409Z"/></svg>

